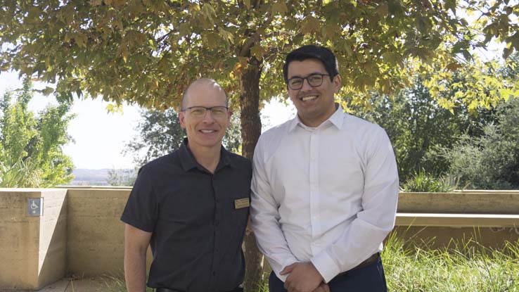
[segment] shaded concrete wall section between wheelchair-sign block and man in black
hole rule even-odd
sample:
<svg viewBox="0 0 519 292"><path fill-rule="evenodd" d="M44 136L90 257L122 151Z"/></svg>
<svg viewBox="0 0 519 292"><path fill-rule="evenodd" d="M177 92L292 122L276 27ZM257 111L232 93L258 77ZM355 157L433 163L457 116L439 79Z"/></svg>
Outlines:
<svg viewBox="0 0 519 292"><path fill-rule="evenodd" d="M121 277L128 188L68 190L68 271L78 277ZM148 265L151 253L148 250Z"/></svg>

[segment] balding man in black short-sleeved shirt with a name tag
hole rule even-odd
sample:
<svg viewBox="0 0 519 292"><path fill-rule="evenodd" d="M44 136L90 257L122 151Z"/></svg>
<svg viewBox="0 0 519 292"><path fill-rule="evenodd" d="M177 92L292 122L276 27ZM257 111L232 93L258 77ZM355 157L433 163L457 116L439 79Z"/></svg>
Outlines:
<svg viewBox="0 0 519 292"><path fill-rule="evenodd" d="M241 243L249 214L250 161L222 146L231 112L214 80L193 82L179 113L187 139L141 167L121 220L128 292L242 291Z"/></svg>

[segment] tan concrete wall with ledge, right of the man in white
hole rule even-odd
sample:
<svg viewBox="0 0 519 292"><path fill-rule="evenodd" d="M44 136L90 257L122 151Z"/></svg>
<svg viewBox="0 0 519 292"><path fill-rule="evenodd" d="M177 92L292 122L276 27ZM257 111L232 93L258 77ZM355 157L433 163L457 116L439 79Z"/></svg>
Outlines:
<svg viewBox="0 0 519 292"><path fill-rule="evenodd" d="M519 191L399 193L398 212L393 232L412 245L501 248L519 241ZM411 213L416 217L404 218Z"/></svg>

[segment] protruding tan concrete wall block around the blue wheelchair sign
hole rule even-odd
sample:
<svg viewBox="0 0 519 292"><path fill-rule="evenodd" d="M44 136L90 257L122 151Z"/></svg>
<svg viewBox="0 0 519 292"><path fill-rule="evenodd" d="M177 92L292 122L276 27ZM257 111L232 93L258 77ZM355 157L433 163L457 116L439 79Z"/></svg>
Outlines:
<svg viewBox="0 0 519 292"><path fill-rule="evenodd" d="M37 289L65 276L66 193L1 189L0 288ZM27 216L27 198L44 198L42 216Z"/></svg>

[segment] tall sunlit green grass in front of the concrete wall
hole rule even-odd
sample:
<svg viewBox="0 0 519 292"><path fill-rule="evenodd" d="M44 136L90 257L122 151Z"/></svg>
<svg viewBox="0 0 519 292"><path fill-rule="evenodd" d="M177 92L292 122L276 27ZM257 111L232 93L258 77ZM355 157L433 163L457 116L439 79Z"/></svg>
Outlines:
<svg viewBox="0 0 519 292"><path fill-rule="evenodd" d="M388 291L519 292L519 241L500 249L476 241L430 249L428 243L408 244L392 232L382 258ZM113 281L107 288L126 291L124 281ZM259 292L268 291L265 285Z"/></svg>

